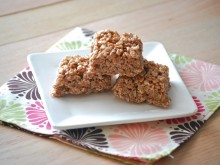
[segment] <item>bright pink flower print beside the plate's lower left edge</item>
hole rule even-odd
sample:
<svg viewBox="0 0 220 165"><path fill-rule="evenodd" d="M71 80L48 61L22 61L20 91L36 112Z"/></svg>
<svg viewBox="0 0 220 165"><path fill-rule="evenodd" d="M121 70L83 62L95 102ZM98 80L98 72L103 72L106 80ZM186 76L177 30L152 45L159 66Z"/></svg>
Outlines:
<svg viewBox="0 0 220 165"><path fill-rule="evenodd" d="M46 128L47 130L51 129L44 107L40 102L36 101L35 104L31 104L26 110L29 122L32 125L36 125L39 128Z"/></svg>

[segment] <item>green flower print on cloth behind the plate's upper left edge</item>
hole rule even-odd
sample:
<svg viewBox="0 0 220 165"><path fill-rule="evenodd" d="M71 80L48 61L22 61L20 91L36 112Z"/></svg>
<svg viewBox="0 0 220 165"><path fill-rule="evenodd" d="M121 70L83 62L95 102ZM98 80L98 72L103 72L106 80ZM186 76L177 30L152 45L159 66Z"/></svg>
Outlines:
<svg viewBox="0 0 220 165"><path fill-rule="evenodd" d="M57 48L61 51L80 49L82 46L88 47L88 44L83 44L81 41L61 42Z"/></svg>

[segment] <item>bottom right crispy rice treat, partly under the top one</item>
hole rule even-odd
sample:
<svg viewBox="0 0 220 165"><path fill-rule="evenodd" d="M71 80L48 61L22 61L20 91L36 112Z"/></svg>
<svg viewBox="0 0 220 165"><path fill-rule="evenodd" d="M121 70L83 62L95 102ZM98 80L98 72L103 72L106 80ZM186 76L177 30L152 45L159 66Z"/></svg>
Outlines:
<svg viewBox="0 0 220 165"><path fill-rule="evenodd" d="M144 68L145 71L135 77L120 76L113 87L115 96L127 102L168 107L171 102L168 96L169 68L146 60Z"/></svg>

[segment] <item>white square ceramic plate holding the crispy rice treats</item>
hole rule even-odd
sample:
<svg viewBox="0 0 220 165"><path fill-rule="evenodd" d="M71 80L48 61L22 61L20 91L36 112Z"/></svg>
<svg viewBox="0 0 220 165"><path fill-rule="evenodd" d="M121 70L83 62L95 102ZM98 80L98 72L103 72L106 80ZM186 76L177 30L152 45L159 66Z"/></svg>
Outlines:
<svg viewBox="0 0 220 165"><path fill-rule="evenodd" d="M143 45L143 56L170 70L171 106L167 109L148 104L132 104L116 98L112 92L80 96L52 97L52 84L56 79L58 65L65 56L87 55L89 50L59 53L35 53L28 56L28 62L45 106L51 125L56 129L72 129L122 123L146 122L189 116L197 106L181 77L171 62L165 48L158 42Z"/></svg>

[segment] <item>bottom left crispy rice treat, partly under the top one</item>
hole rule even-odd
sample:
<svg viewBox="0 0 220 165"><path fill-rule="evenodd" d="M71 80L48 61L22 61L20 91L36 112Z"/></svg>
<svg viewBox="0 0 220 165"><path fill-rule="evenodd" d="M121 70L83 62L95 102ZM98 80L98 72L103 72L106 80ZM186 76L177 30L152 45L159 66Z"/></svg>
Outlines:
<svg viewBox="0 0 220 165"><path fill-rule="evenodd" d="M111 89L111 76L89 73L89 58L79 55L65 57L53 85L52 96L89 94Z"/></svg>

